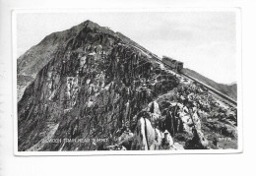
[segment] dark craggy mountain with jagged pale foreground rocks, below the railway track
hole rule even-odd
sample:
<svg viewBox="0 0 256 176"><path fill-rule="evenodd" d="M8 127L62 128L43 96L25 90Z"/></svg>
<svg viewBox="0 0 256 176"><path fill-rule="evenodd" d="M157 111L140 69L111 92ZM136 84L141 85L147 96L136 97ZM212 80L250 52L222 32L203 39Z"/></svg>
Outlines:
<svg viewBox="0 0 256 176"><path fill-rule="evenodd" d="M236 147L235 108L121 33L87 21L53 36L18 62L34 78L18 103L19 150L220 148L218 138ZM41 44L56 49L47 57ZM43 63L31 61L40 52Z"/></svg>

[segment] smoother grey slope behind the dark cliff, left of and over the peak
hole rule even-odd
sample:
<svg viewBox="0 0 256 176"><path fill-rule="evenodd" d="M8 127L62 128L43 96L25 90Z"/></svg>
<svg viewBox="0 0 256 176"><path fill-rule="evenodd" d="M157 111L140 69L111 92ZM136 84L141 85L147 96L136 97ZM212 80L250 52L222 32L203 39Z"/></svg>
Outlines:
<svg viewBox="0 0 256 176"><path fill-rule="evenodd" d="M25 88L29 86L34 80L37 72L41 70L53 57L55 57L58 49L62 49L63 45L67 44L81 31L81 29L87 26L88 22L89 21L75 26L71 29L56 31L45 36L38 44L32 46L31 49L29 49L26 53L18 58L18 101L21 99ZM114 32L111 29L101 28L95 23L91 23L90 26L94 26L94 28L97 29L100 28L100 31L116 36L119 40L121 39L126 43L143 48L142 46L140 46L139 44L137 44L120 32Z"/></svg>

